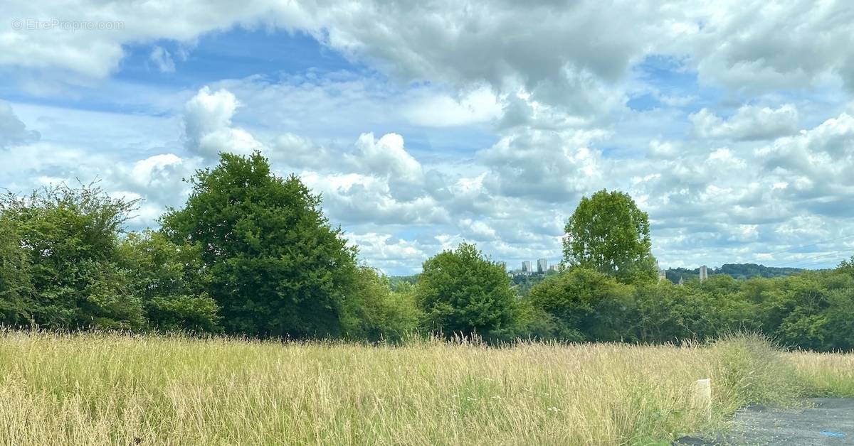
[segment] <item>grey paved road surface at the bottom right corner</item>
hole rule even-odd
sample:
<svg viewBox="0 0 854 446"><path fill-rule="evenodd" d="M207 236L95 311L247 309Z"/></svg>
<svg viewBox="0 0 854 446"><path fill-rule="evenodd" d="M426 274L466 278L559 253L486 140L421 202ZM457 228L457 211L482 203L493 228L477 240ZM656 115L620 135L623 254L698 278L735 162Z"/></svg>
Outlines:
<svg viewBox="0 0 854 446"><path fill-rule="evenodd" d="M810 398L810 408L752 407L734 415L717 438L683 437L677 445L854 445L854 398Z"/></svg>

